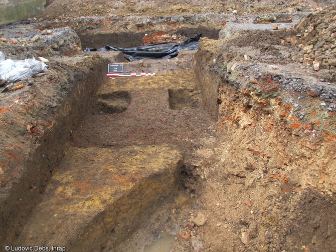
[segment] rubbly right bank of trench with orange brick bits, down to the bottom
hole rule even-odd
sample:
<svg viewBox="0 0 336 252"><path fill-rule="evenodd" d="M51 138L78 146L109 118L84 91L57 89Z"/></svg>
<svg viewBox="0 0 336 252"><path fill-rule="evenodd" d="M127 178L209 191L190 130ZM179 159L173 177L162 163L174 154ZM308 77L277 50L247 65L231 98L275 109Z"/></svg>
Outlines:
<svg viewBox="0 0 336 252"><path fill-rule="evenodd" d="M253 40L254 50L273 38L277 43L267 48L279 43L279 52L297 51L281 46L281 36L257 34L262 40ZM313 87L316 79L311 73L310 81L302 80L305 74L299 75L302 68L296 71L289 54L281 62L291 71L279 65L265 69L277 54L244 61L250 50L235 41L240 39L203 40L196 54L201 83L219 86L219 139L199 150L203 163L185 183L199 204L180 229L174 251L333 251L336 219L327 212L336 203L334 115L320 105L323 96L299 89L303 83ZM198 211L205 224L194 224Z"/></svg>

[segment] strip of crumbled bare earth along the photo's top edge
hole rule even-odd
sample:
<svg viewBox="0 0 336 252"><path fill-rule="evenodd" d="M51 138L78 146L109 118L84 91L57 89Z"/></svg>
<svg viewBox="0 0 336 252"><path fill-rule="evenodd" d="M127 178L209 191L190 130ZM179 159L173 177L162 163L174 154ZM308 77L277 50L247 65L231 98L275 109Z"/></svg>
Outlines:
<svg viewBox="0 0 336 252"><path fill-rule="evenodd" d="M67 20L81 16L174 16L181 14L232 13L238 15L260 13L297 13L319 11L332 1L100 1L54 0L39 16L40 21Z"/></svg>

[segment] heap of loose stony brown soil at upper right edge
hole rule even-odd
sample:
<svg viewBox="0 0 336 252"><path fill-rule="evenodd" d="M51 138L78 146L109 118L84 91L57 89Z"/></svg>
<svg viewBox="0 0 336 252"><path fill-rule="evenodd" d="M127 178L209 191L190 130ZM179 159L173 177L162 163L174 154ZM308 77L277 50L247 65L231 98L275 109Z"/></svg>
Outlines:
<svg viewBox="0 0 336 252"><path fill-rule="evenodd" d="M312 65L317 76L328 82L336 77L336 5L308 15L297 26L298 45L304 53L303 63Z"/></svg>

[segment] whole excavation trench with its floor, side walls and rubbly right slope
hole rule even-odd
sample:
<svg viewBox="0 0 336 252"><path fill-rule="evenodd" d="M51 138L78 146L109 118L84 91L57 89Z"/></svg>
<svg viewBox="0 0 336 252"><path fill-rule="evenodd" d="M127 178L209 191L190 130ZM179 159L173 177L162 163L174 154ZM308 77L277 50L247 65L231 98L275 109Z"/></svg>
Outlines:
<svg viewBox="0 0 336 252"><path fill-rule="evenodd" d="M266 251L258 247L265 237L258 230L266 228L278 237L277 250L291 251L305 246L302 237L317 244L316 228L318 240L334 237L334 214L325 214L334 203L328 196L335 192L334 122L322 120L326 108L317 110L320 100L301 90L301 82L314 88L315 80L295 67L289 73L242 61L228 45L201 40L197 52L181 51L170 60L127 63L120 52L54 58L57 71L38 82L48 92L35 98L41 100L34 111L42 123L26 118L24 134L37 147L19 182L0 188L11 199L4 197L0 209L7 230L0 245L142 251L167 231L185 242L182 250L210 240L205 251L222 251L251 233L255 250ZM157 75L106 78L110 62L124 62L125 72ZM295 85L289 86L297 81L294 92ZM28 98L37 93L31 90ZM40 120L41 111L46 117ZM208 224L194 225L198 209L211 216ZM237 211L250 217L238 219ZM328 231L297 212L320 219ZM190 238L192 233L198 235ZM324 250L332 247L325 244ZM313 246L319 251L323 245Z"/></svg>

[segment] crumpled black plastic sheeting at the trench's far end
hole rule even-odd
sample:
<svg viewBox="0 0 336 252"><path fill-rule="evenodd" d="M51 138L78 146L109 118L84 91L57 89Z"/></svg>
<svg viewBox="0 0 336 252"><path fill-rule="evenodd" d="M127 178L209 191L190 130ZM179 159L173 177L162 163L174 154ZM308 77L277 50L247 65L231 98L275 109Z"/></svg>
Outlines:
<svg viewBox="0 0 336 252"><path fill-rule="evenodd" d="M197 50L198 41L201 37L202 34L199 33L181 43L164 42L127 49L104 46L98 50L95 48L86 48L85 52L120 51L128 61L137 61L141 59L171 59L178 56L181 50Z"/></svg>

